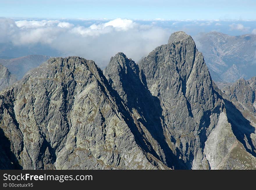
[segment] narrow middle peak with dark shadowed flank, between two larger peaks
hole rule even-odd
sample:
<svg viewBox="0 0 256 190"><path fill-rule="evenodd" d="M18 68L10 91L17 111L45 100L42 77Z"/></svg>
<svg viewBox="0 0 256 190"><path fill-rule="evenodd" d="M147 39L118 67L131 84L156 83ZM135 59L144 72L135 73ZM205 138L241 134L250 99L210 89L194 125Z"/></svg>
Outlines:
<svg viewBox="0 0 256 190"><path fill-rule="evenodd" d="M134 118L137 126L134 131L141 136L141 147L170 168L183 166L166 142L160 101L149 91L138 65L118 53L111 58L104 73Z"/></svg>

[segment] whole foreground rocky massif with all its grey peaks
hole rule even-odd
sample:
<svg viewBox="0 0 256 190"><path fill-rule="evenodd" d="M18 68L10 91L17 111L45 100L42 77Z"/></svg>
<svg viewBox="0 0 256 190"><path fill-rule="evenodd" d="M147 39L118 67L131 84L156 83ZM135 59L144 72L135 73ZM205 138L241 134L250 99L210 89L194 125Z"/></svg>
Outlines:
<svg viewBox="0 0 256 190"><path fill-rule="evenodd" d="M2 169L256 169L254 124L185 32L138 64L117 53L104 71L51 58L0 105Z"/></svg>

